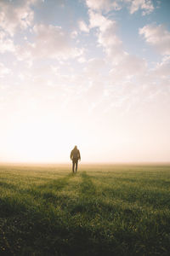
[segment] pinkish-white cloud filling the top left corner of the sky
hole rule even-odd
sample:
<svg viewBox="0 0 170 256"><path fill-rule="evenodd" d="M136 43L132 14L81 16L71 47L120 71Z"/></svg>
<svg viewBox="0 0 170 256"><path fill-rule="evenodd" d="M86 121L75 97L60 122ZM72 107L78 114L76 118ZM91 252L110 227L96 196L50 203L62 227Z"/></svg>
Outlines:
<svg viewBox="0 0 170 256"><path fill-rule="evenodd" d="M18 29L26 29L31 26L34 12L31 4L34 0L18 0L18 1L0 1L0 27L3 31L8 32L10 36Z"/></svg>

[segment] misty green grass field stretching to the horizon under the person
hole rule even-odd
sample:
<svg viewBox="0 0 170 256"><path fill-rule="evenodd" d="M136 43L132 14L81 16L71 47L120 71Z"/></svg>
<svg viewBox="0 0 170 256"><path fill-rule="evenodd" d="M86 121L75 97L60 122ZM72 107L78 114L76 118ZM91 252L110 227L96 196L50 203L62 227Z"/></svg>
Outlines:
<svg viewBox="0 0 170 256"><path fill-rule="evenodd" d="M0 166L0 255L170 255L170 166Z"/></svg>

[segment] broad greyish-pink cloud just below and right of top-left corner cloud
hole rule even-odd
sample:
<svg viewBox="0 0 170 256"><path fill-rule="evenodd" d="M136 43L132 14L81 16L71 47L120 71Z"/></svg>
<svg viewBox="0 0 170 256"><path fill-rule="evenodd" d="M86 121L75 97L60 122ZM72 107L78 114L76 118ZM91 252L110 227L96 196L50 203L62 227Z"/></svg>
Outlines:
<svg viewBox="0 0 170 256"><path fill-rule="evenodd" d="M83 49L71 46L71 35L65 33L60 26L38 24L33 27L34 43L18 48L18 57L69 59L82 55Z"/></svg>

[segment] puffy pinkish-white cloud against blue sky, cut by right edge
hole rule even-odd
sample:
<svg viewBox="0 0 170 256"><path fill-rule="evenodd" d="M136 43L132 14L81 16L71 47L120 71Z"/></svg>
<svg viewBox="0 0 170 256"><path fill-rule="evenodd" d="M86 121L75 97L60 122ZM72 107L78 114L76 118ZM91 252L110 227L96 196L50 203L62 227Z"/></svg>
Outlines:
<svg viewBox="0 0 170 256"><path fill-rule="evenodd" d="M161 55L170 55L170 32L163 25L146 25L139 29L145 41L155 47Z"/></svg>

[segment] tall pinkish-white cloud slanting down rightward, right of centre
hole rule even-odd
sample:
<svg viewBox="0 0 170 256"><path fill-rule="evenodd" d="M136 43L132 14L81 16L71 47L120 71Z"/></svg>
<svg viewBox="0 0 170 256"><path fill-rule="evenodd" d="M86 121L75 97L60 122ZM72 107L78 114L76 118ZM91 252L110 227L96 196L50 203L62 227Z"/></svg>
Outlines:
<svg viewBox="0 0 170 256"><path fill-rule="evenodd" d="M111 83L127 83L134 77L144 75L147 63L136 55L130 55L123 49L122 40L117 36L117 23L104 15L89 10L90 28L97 27L98 43L103 47L106 59L110 63ZM97 67L95 64L94 67ZM93 71L94 72L94 71ZM95 73L95 72L94 72Z"/></svg>

